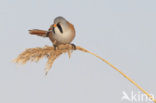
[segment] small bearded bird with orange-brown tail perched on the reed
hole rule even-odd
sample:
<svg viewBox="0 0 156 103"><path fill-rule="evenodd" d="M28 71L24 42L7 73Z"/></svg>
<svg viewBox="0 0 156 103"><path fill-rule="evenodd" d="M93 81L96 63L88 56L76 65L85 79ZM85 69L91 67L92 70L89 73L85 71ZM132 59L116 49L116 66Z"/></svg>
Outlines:
<svg viewBox="0 0 156 103"><path fill-rule="evenodd" d="M38 33L34 32L35 30ZM55 50L61 44L71 44L73 49L76 49L75 44L71 43L76 34L74 25L62 16L58 16L54 19L48 31L33 29L29 30L29 33L42 37L49 37Z"/></svg>

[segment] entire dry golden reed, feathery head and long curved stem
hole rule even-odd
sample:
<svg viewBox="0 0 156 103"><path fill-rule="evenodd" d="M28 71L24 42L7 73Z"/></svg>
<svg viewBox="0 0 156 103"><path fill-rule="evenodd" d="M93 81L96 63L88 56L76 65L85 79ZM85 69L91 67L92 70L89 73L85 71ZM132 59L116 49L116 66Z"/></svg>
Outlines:
<svg viewBox="0 0 156 103"><path fill-rule="evenodd" d="M143 93L145 93L151 100L153 100L154 103L156 103L156 99L154 99L150 94L148 94L143 88L141 88L136 82L134 82L131 78L129 78L127 75L125 75L123 72L121 72L119 69L117 69L115 66L113 66L111 63L103 59L102 57L82 48L79 46L76 46L76 50L80 50L83 52L90 53L97 58L101 59L105 63L107 63L109 66L111 66L113 69L118 71L121 75L123 75L125 78L127 78L132 84L134 84L138 89L140 89ZM24 52L22 52L15 60L16 63L25 64L27 61L39 61L43 57L47 57L48 61L46 64L46 74L52 67L52 64L54 63L55 59L58 58L63 53L68 53L69 57L71 55L71 52L73 51L73 47L70 44L66 45L60 45L57 50L54 50L52 46L45 46L43 48L31 48L27 49Z"/></svg>

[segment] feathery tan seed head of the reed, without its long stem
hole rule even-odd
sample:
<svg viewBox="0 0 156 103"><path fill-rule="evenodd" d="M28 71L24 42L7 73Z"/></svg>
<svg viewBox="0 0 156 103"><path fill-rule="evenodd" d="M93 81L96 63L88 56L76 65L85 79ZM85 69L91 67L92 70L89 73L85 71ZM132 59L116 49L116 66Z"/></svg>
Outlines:
<svg viewBox="0 0 156 103"><path fill-rule="evenodd" d="M47 57L48 61L46 63L46 74L52 67L54 61L63 53L68 53L69 57L73 51L73 47L70 44L59 45L56 50L52 46L45 46L43 48L30 48L22 52L15 60L15 63L25 64L28 61L38 62L43 57ZM76 50L87 52L86 49L76 46Z"/></svg>

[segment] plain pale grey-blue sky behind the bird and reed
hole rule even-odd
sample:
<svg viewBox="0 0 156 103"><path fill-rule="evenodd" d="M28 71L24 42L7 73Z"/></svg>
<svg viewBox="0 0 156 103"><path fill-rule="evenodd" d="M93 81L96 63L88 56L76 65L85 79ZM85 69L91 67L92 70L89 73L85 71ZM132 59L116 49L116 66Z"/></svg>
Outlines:
<svg viewBox="0 0 156 103"><path fill-rule="evenodd" d="M75 51L56 60L18 66L26 48L51 45L29 29L47 30L63 16L76 28L76 45L104 57L156 95L155 0L0 0L0 103L131 103L122 92L139 90L92 55Z"/></svg>

